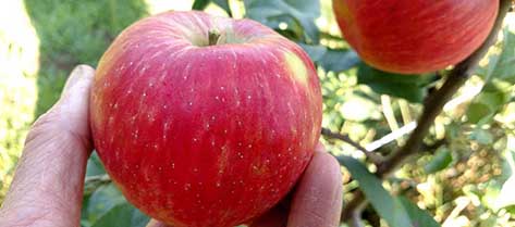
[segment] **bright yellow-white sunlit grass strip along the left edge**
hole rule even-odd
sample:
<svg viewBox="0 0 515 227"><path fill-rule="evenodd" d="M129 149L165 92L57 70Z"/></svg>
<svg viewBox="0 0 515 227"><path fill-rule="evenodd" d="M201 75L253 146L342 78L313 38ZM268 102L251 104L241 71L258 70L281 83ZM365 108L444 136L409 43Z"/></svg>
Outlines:
<svg viewBox="0 0 515 227"><path fill-rule="evenodd" d="M0 202L12 180L12 172L37 101L39 39L22 1L2 1L0 15Z"/></svg>

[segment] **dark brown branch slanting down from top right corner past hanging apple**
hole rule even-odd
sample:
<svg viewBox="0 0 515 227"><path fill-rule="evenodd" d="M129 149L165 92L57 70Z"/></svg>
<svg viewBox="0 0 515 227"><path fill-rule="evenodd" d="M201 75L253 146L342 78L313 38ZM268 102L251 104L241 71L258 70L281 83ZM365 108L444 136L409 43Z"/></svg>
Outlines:
<svg viewBox="0 0 515 227"><path fill-rule="evenodd" d="M389 176L391 173L397 169L397 167L402 165L407 157L416 154L420 150L424 138L429 131L434 118L442 112L443 105L465 84L470 75L473 75L479 61L488 52L489 48L495 43L498 34L502 28L504 17L512 7L511 2L512 0L501 0L498 18L495 20L494 27L485 43L465 61L457 64L451 71L443 86L426 99L424 112L418 118L417 127L412 133L406 143L396 152L392 153L392 155L390 155L378 166L378 172L376 173L378 177L384 178ZM355 197L343 210L342 220L351 222L350 218L352 218L353 211L359 209L359 206L363 206L365 203L365 197Z"/></svg>

